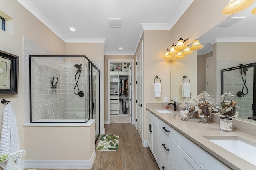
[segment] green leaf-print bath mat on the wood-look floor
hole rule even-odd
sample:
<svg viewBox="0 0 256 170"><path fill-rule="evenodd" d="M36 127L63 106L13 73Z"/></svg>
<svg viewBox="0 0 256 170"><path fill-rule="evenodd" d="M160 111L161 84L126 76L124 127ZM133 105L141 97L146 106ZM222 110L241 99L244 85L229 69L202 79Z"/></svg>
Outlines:
<svg viewBox="0 0 256 170"><path fill-rule="evenodd" d="M102 135L96 151L118 151L118 135Z"/></svg>

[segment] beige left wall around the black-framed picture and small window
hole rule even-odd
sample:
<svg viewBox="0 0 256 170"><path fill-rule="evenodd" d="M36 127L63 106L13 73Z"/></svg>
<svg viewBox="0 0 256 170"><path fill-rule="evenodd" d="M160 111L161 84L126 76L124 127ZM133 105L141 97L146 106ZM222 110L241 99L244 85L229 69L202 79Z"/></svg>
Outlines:
<svg viewBox="0 0 256 170"><path fill-rule="evenodd" d="M65 43L16 0L0 1L0 10L13 18L14 34L0 30L0 49L19 56L19 94L0 95L0 100L10 100L16 114L20 145L24 149L24 95L23 95L23 36L49 49L55 55L65 54ZM8 29L8 28L7 28ZM0 117L6 104L0 103ZM2 121L0 123L0 130Z"/></svg>

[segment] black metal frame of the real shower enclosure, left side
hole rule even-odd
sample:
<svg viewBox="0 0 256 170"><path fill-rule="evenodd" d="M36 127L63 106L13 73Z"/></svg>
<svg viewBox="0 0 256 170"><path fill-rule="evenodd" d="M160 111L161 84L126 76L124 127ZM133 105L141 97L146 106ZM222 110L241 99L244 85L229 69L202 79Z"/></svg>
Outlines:
<svg viewBox="0 0 256 170"><path fill-rule="evenodd" d="M95 69L97 69L99 72L100 72L100 69L98 69L98 67L96 65L94 65L94 63L92 63L92 61L90 61L90 59L88 59L85 55L29 55L29 119L30 119L30 123L87 123L91 118L92 118L92 115L93 115L93 112L91 110L91 108L93 108L93 103L90 102L90 99L91 99L91 95L92 95L92 82L90 82L90 79L89 79L89 82L88 84L91 83L91 90L89 89L89 119L85 122L32 122L32 106L31 106L31 58L32 57L81 57L81 58L86 58L89 62L89 65L88 65L88 70L91 70L91 71L88 71L88 77L91 77L92 79L92 74L90 75L90 73L92 73L92 67L94 67ZM92 67L91 67L92 65ZM91 68L90 68L91 67ZM100 88L100 74L99 74L99 88ZM90 92L91 91L91 92ZM99 101L100 101L100 94L99 94ZM100 105L99 105L99 115L100 115ZM99 116L99 128L100 128L100 116ZM98 134L99 136L100 134ZM97 137L98 138L98 137Z"/></svg>

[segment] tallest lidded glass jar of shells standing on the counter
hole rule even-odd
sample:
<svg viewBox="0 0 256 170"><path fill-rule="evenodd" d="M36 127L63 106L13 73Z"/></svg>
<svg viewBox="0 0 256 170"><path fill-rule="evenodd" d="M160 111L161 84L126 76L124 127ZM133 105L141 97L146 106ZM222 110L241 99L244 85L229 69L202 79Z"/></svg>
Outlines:
<svg viewBox="0 0 256 170"><path fill-rule="evenodd" d="M212 95L203 91L203 93L199 94L197 97L197 105L198 105L198 114L197 116L202 118L200 123L209 124L206 122L206 119L211 118L211 106L212 106Z"/></svg>

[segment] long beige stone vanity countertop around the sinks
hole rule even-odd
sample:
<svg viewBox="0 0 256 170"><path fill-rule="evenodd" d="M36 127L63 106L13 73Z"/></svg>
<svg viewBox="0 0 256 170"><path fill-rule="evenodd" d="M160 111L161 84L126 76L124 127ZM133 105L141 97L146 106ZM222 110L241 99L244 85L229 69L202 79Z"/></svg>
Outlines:
<svg viewBox="0 0 256 170"><path fill-rule="evenodd" d="M146 109L230 168L241 170L256 170L256 166L253 164L250 164L239 156L236 156L235 154L225 150L224 148L214 144L213 142L210 142L207 138L203 137L214 136L221 138L221 136L239 136L240 138L248 140L251 142L251 144L256 144L256 136L252 136L238 130L225 132L220 130L219 124L217 123L199 123L198 121L201 120L200 118L182 121L180 120L181 117L179 111L173 111L173 109L164 109L164 107L159 107L157 105L147 104ZM159 113L156 110L170 110L173 113ZM196 115L194 115L194 117L195 116Z"/></svg>

